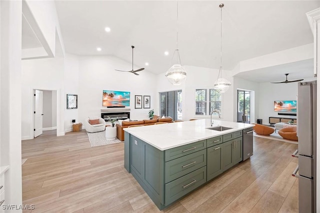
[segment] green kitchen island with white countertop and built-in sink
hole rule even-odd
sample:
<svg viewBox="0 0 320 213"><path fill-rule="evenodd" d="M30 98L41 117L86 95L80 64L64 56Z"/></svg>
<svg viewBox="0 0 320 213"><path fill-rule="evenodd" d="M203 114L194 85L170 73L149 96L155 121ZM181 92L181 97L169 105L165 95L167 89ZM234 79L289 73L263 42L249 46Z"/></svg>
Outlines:
<svg viewBox="0 0 320 213"><path fill-rule="evenodd" d="M242 133L254 125L201 119L125 128L124 168L160 209L242 161Z"/></svg>

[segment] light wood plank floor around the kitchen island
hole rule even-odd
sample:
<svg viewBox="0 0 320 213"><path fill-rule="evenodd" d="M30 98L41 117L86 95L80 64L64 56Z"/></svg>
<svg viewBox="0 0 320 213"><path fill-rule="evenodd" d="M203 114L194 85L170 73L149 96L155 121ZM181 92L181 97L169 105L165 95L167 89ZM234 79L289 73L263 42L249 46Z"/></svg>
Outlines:
<svg viewBox="0 0 320 213"><path fill-rule="evenodd" d="M296 144L254 138L254 155L163 212L298 212ZM22 200L32 213L160 212L123 168L123 143L90 147L86 132L22 141ZM29 213L30 211L24 211Z"/></svg>

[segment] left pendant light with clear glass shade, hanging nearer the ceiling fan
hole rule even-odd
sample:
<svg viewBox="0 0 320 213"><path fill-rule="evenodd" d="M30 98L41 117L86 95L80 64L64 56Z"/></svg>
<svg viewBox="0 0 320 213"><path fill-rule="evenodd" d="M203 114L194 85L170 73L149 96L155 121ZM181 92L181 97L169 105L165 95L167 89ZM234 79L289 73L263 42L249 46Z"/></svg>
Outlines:
<svg viewBox="0 0 320 213"><path fill-rule="evenodd" d="M180 54L178 49L178 0L176 0L176 49L173 52L171 62L174 57L174 54L176 54L176 63L168 69L168 71L165 73L165 76L171 84L180 85L182 82L185 81L186 71L181 65Z"/></svg>

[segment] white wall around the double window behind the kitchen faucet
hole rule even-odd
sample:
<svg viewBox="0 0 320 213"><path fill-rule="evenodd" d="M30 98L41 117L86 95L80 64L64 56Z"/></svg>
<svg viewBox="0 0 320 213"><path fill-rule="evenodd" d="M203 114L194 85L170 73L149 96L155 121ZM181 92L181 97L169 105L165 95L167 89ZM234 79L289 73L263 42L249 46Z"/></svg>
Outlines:
<svg viewBox="0 0 320 213"><path fill-rule="evenodd" d="M210 116L195 116L195 89L209 89L213 88L213 84L217 79L218 69L209 69L195 66L184 66L187 77L183 84L173 86L164 76L165 73L157 75L157 92L182 90L182 120L189 120L192 118L208 118ZM231 82L231 86L222 95L222 118L224 121L233 120L233 79L230 71L223 70L222 77ZM158 105L158 101L157 101ZM217 119L217 118L215 118Z"/></svg>

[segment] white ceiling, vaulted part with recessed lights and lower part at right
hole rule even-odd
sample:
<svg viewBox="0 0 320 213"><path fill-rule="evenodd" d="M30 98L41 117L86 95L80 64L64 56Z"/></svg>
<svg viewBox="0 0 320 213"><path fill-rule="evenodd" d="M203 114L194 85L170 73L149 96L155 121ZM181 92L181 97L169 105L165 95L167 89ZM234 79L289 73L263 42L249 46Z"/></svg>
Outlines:
<svg viewBox="0 0 320 213"><path fill-rule="evenodd" d="M305 12L320 7L319 0L222 2L222 62L226 70L232 70L241 60L313 42ZM178 48L182 65L220 66L220 3L178 2ZM135 68L145 67L144 71L153 73L168 69L176 48L175 0L55 0L55 4L66 52L114 55L131 63L131 45L134 45ZM109 33L104 31L106 26L111 28ZM102 51L97 52L96 47ZM169 55L164 56L164 51ZM264 68L239 77L260 82L267 76L261 73L277 73L283 76L268 77L268 81L284 80L283 73L291 73L297 67L312 68L312 61ZM131 70L131 66L118 69ZM291 77L303 76L288 76Z"/></svg>

